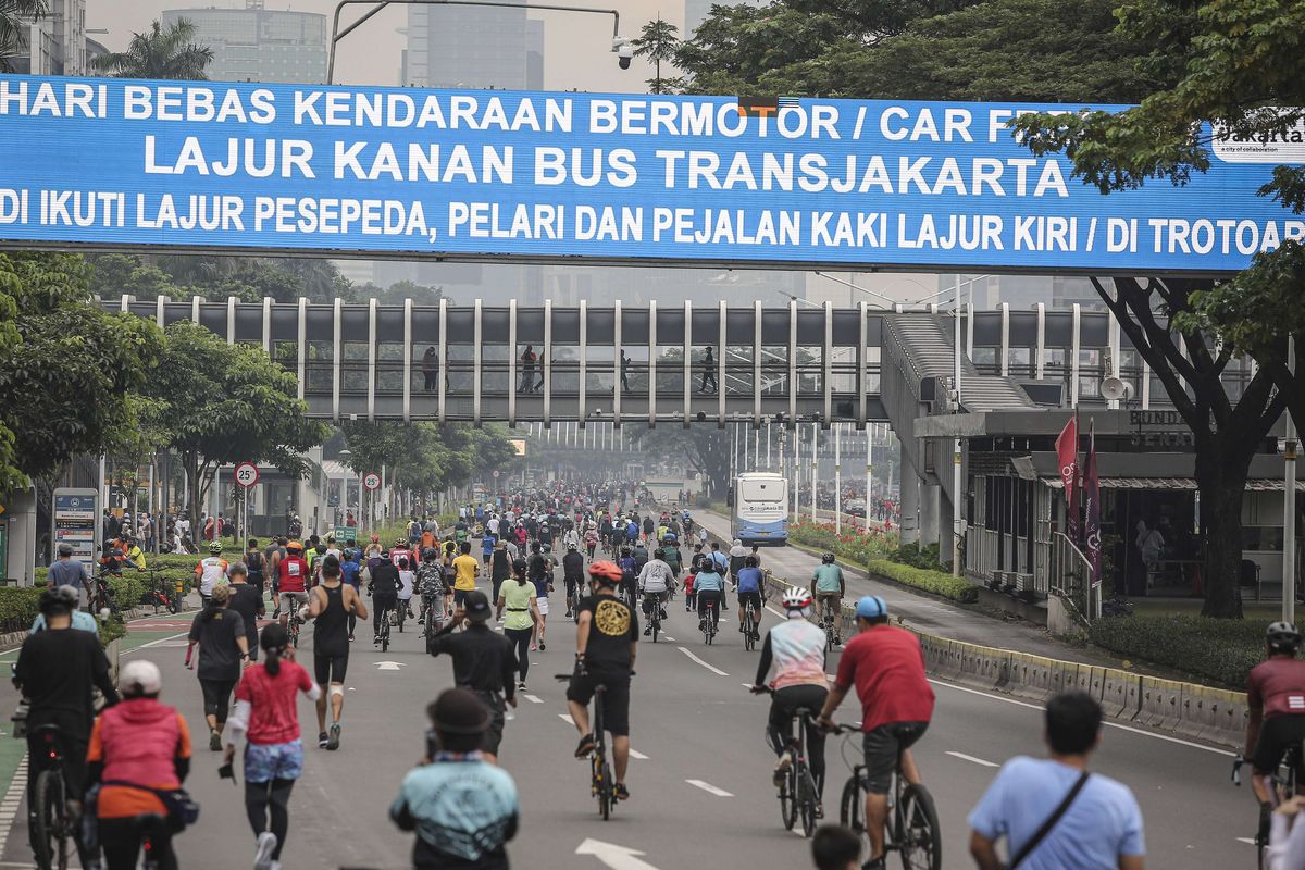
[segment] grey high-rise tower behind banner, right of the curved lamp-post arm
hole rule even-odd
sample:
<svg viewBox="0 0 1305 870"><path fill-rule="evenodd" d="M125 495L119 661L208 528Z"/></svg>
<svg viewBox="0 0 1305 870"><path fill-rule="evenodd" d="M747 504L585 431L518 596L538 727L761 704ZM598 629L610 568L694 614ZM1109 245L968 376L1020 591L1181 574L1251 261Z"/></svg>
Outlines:
<svg viewBox="0 0 1305 870"><path fill-rule="evenodd" d="M401 85L540 90L544 22L506 7L408 7Z"/></svg>

